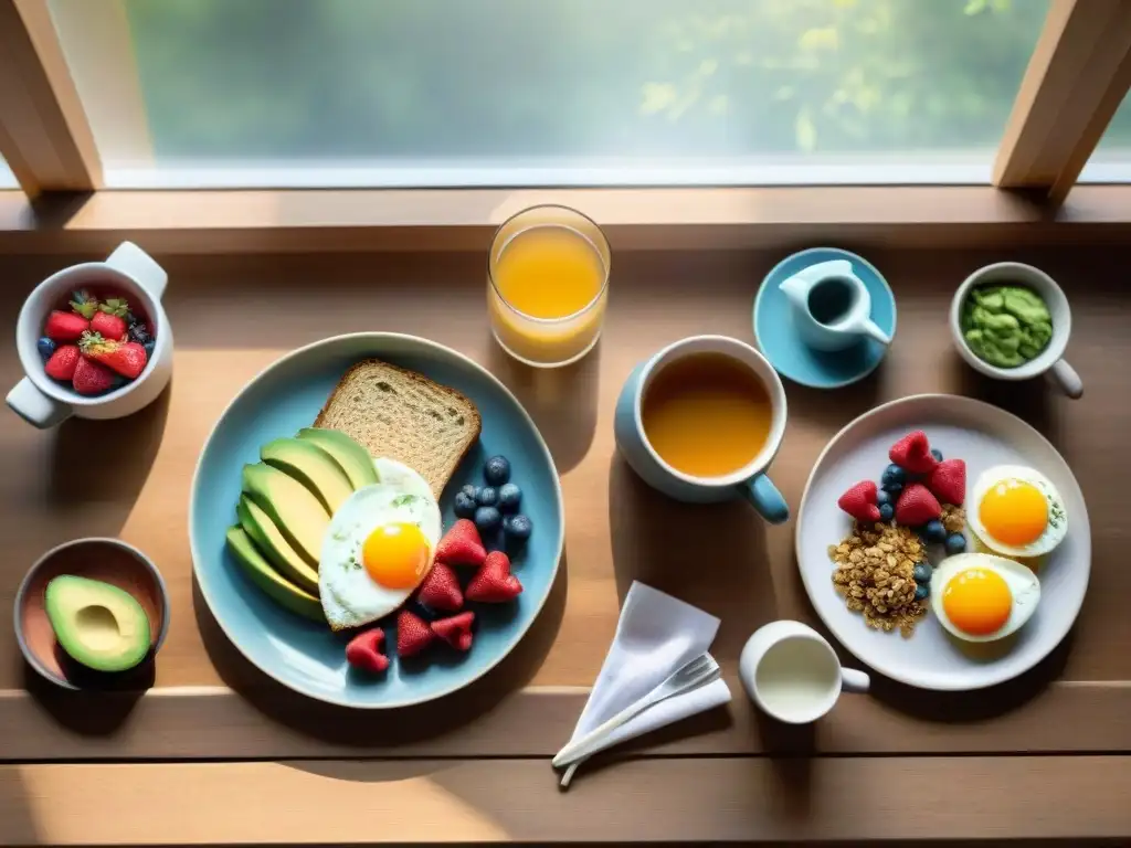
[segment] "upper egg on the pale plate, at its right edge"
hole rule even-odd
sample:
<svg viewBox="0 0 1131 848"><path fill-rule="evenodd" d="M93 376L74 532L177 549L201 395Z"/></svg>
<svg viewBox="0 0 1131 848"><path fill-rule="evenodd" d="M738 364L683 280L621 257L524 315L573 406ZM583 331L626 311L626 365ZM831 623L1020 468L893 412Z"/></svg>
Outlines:
<svg viewBox="0 0 1131 848"><path fill-rule="evenodd" d="M1041 471L1000 465L983 471L966 505L966 522L983 545L1004 556L1041 556L1068 533L1056 486Z"/></svg>

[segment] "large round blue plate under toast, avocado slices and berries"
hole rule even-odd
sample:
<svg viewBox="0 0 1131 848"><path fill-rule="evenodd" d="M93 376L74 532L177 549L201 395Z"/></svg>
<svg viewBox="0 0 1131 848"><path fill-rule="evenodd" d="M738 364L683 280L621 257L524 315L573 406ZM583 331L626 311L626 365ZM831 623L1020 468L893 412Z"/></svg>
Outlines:
<svg viewBox="0 0 1131 848"><path fill-rule="evenodd" d="M512 478L523 487L523 511L534 522L526 552L515 559L523 594L511 604L473 607L478 629L470 651L458 655L447 646L435 646L418 663L394 659L375 680L346 665L347 637L293 615L253 586L224 542L225 531L235 523L244 462L259 460L262 443L313 424L346 369L368 357L450 386L480 409L478 444L440 499L446 527L455 520L454 494L464 483L482 484L483 460L495 453L510 458ZM561 559L561 483L530 416L501 382L470 360L412 336L338 336L284 356L248 383L224 410L192 481L189 537L197 582L208 607L232 643L260 670L320 701L368 709L405 707L466 686L506 657L529 629L550 595ZM386 648L390 656L396 654L396 633L390 629L386 630Z"/></svg>

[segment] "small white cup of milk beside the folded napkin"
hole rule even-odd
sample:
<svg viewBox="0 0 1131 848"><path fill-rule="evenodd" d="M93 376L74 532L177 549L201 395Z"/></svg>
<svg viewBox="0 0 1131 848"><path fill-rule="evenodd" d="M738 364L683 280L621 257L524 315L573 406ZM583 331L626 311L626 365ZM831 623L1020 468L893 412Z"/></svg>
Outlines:
<svg viewBox="0 0 1131 848"><path fill-rule="evenodd" d="M836 651L800 621L775 621L754 631L739 659L746 693L769 716L791 725L815 721L841 690L867 692L864 672L841 668Z"/></svg>

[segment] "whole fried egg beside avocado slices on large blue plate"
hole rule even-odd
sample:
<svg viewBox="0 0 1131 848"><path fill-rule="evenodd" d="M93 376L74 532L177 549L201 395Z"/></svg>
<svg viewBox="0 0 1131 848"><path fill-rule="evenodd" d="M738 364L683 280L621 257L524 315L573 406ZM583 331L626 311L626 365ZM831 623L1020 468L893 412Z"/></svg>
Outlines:
<svg viewBox="0 0 1131 848"><path fill-rule="evenodd" d="M406 465L373 460L380 483L354 492L322 538L318 588L334 630L388 615L432 566L440 507L428 482Z"/></svg>

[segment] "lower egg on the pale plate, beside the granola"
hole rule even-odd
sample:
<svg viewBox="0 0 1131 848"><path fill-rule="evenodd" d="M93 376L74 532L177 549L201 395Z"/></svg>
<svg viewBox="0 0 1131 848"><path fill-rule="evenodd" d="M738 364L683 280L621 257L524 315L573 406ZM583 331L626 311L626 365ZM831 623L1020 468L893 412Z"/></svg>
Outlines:
<svg viewBox="0 0 1131 848"><path fill-rule="evenodd" d="M1041 602L1041 581L1020 563L992 554L956 554L931 577L931 606L949 633L992 642L1016 632Z"/></svg>

